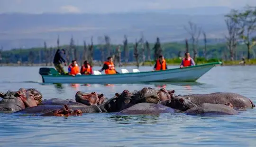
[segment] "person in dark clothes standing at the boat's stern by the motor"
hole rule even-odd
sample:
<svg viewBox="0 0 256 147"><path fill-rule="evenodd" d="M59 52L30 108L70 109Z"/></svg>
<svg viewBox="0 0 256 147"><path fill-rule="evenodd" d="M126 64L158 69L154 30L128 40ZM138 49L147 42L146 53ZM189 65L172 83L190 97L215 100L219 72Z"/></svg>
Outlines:
<svg viewBox="0 0 256 147"><path fill-rule="evenodd" d="M64 68L62 63L64 63L64 65L66 66L66 60L65 60L65 50L64 49L57 49L55 56L54 56L54 66L56 68L56 70L60 73L60 74L65 74Z"/></svg>

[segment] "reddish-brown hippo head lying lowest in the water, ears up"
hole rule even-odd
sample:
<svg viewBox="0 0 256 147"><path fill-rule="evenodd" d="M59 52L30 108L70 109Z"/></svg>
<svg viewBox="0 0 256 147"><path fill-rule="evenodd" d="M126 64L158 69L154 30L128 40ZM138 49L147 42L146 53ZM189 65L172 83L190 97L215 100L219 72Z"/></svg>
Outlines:
<svg viewBox="0 0 256 147"><path fill-rule="evenodd" d="M69 106L64 105L61 109L55 109L53 111L41 114L40 116L70 116L70 115L81 116L82 111L79 109L73 110Z"/></svg>

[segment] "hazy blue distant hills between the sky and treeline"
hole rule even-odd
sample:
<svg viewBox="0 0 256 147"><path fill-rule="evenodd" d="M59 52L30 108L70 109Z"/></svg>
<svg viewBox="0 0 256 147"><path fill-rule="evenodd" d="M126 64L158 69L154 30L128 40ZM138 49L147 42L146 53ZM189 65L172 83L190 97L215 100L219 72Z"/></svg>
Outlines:
<svg viewBox="0 0 256 147"><path fill-rule="evenodd" d="M146 40L182 41L190 38L184 30L188 21L192 21L206 32L209 39L223 38L226 33L224 15L227 7L201 7L157 11L140 11L112 14L0 14L0 45L4 49L56 46L69 44L73 36L75 44L99 43L98 36L109 35L111 43L122 43L124 35L129 42L139 39L143 32Z"/></svg>

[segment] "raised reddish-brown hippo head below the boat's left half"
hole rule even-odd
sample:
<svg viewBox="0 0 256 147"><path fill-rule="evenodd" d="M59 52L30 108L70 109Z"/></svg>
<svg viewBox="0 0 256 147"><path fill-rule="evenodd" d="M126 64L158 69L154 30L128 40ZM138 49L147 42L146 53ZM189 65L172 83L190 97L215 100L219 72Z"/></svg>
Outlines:
<svg viewBox="0 0 256 147"><path fill-rule="evenodd" d="M86 93L82 91L77 91L75 94L75 101L85 105L97 105L99 102L99 97L96 92Z"/></svg>

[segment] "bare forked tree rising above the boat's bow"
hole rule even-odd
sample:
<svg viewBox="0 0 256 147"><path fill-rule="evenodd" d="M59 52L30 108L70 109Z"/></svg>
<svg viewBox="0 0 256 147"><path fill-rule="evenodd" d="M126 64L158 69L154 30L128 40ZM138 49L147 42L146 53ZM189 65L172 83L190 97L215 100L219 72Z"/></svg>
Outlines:
<svg viewBox="0 0 256 147"><path fill-rule="evenodd" d="M197 45L198 45L198 38L201 34L201 27L197 27L196 24L193 24L191 21L188 22L190 29L184 27L185 30L191 35L192 39L192 49L193 49L193 59L197 57Z"/></svg>

